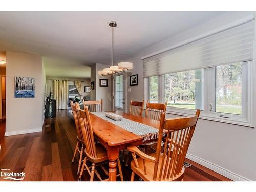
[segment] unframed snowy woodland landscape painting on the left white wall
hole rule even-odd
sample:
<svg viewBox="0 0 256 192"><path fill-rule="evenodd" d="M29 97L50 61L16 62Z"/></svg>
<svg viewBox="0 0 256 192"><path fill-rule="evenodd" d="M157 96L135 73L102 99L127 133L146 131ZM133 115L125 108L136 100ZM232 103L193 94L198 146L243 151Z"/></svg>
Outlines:
<svg viewBox="0 0 256 192"><path fill-rule="evenodd" d="M15 98L35 97L35 78L15 77Z"/></svg>

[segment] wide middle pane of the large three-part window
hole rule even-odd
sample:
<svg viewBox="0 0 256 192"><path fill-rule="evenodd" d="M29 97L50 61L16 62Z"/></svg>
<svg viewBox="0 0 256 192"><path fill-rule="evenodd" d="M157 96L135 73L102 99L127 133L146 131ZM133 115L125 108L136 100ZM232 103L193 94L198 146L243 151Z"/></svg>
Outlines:
<svg viewBox="0 0 256 192"><path fill-rule="evenodd" d="M203 109L202 72L199 69L164 75L164 100L167 106Z"/></svg>

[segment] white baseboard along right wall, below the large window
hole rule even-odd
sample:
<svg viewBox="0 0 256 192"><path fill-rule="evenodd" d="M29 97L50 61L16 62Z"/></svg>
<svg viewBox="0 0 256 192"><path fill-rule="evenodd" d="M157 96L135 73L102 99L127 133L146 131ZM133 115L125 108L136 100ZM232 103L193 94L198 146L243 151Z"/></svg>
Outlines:
<svg viewBox="0 0 256 192"><path fill-rule="evenodd" d="M233 173L230 170L227 170L227 169L225 169L225 168L223 168L221 166L218 166L218 165L216 165L214 163L211 163L211 162L206 161L206 160L204 160L204 159L202 159L200 157L197 157L195 155L187 153L186 158L188 158L188 159L190 159L192 161L195 161L196 163L198 163L200 165L203 165L203 166L213 170L214 172L217 172L218 174L221 174L221 175L223 175L223 176L225 176L225 177L227 177L227 178L229 178L229 179L231 179L233 181L252 181L252 180L247 179L247 178L245 178L245 177L243 177L241 175Z"/></svg>

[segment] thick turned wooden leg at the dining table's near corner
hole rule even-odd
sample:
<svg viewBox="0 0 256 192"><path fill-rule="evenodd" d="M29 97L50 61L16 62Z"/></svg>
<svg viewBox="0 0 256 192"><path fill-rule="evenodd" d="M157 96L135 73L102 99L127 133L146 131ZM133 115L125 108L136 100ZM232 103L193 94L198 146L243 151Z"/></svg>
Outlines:
<svg viewBox="0 0 256 192"><path fill-rule="evenodd" d="M116 181L116 160L119 155L118 147L109 147L107 151L109 159L109 181Z"/></svg>

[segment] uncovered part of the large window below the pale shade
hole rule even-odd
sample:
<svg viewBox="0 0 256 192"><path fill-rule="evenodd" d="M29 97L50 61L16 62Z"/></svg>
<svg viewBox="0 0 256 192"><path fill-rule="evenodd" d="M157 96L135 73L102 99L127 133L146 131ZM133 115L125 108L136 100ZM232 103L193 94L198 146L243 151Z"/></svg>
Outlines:
<svg viewBox="0 0 256 192"><path fill-rule="evenodd" d="M144 85L144 99L167 101L167 113L201 109L203 119L253 126L251 61L146 77Z"/></svg>

